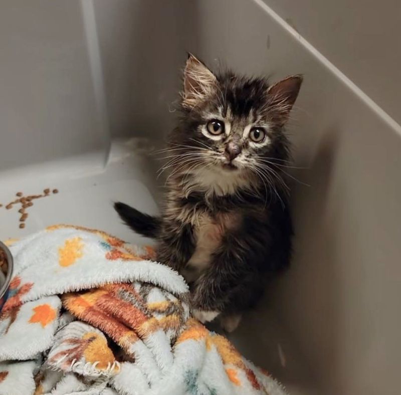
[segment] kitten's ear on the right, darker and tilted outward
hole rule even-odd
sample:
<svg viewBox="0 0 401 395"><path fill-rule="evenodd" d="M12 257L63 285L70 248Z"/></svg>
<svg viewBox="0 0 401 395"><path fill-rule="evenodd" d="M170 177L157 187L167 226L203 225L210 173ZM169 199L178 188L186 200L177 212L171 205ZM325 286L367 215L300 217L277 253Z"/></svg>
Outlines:
<svg viewBox="0 0 401 395"><path fill-rule="evenodd" d="M277 82L268 89L271 109L279 123L284 124L288 120L292 106L298 97L302 80L302 75L294 75Z"/></svg>

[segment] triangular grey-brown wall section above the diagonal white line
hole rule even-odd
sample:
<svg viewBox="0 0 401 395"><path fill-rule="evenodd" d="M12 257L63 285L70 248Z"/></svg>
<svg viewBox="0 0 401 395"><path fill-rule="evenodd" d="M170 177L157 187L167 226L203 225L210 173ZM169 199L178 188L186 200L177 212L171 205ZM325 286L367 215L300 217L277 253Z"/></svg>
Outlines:
<svg viewBox="0 0 401 395"><path fill-rule="evenodd" d="M398 123L398 0L264 0Z"/></svg>

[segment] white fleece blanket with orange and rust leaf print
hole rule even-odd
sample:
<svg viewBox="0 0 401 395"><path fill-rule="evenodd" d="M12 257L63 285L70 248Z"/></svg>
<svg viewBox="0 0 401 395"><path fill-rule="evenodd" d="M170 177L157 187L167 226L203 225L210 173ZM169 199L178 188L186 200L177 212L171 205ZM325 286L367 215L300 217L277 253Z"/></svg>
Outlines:
<svg viewBox="0 0 401 395"><path fill-rule="evenodd" d="M191 317L186 283L150 247L53 226L10 250L1 395L285 394Z"/></svg>

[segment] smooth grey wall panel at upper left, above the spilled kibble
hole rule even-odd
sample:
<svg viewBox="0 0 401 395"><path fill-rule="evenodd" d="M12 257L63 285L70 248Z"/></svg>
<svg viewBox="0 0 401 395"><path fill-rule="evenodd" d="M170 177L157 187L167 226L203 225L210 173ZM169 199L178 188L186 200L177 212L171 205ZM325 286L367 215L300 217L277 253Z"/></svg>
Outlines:
<svg viewBox="0 0 401 395"><path fill-rule="evenodd" d="M0 57L0 168L105 150L80 2L1 0Z"/></svg>

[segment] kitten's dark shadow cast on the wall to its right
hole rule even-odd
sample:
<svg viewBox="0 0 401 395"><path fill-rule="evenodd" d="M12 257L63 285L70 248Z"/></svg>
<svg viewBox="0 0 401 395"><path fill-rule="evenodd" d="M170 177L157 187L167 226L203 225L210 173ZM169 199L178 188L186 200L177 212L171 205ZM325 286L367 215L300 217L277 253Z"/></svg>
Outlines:
<svg viewBox="0 0 401 395"><path fill-rule="evenodd" d="M301 360L309 363L308 371L320 371L315 363L320 355L330 355L327 363L335 375L332 369L338 366L342 289L336 264L337 229L329 202L333 196L338 198L333 184L341 134L332 127L322 135L316 156L305 172L310 186L296 185L293 191L295 237L291 268L274 284L270 297L279 317L296 320L283 322L294 343L300 346L300 338L310 338L307 349L300 349ZM317 385L316 377L313 382Z"/></svg>

